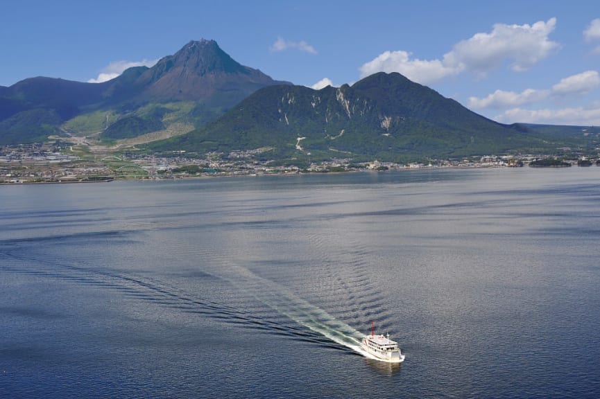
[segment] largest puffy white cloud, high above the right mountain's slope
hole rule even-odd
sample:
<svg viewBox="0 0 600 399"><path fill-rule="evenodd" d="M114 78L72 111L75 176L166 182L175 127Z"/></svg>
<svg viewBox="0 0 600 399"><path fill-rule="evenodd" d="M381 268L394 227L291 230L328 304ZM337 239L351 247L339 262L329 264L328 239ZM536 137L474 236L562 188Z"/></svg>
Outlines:
<svg viewBox="0 0 600 399"><path fill-rule="evenodd" d="M440 60L419 60L406 51L386 51L363 64L361 77L379 71L400 72L428 84L463 71L485 76L505 62L511 63L513 71L525 71L559 48L548 38L554 28L556 18L533 25L495 24L490 33L477 33L454 44Z"/></svg>

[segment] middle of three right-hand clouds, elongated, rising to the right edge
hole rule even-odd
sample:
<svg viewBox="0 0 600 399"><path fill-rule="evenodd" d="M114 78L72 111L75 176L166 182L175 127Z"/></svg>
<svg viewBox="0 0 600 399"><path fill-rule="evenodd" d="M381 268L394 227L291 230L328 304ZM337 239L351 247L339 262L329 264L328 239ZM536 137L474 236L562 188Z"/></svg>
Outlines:
<svg viewBox="0 0 600 399"><path fill-rule="evenodd" d="M525 89L520 93L496 90L485 98L470 97L468 99L468 106L472 109L517 107L518 105L546 100L551 96L585 94L599 86L599 73L597 71L585 71L561 79L551 89Z"/></svg>

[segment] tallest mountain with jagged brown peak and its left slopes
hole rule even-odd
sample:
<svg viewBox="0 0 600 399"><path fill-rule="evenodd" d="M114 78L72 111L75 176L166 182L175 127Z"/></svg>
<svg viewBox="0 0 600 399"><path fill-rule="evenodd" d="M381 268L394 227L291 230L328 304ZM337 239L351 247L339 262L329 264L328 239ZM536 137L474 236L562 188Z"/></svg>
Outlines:
<svg viewBox="0 0 600 399"><path fill-rule="evenodd" d="M286 84L234 61L214 40L192 41L108 82L38 77L0 87L0 144L65 133L121 139L173 125L189 131L257 89Z"/></svg>

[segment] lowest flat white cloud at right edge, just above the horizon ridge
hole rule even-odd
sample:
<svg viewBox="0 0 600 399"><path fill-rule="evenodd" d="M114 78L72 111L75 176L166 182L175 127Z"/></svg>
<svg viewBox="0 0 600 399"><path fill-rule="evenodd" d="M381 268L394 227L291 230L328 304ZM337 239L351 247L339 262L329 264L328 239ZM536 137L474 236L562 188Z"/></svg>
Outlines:
<svg viewBox="0 0 600 399"><path fill-rule="evenodd" d="M600 105L591 108L508 109L495 118L502 123L549 123L555 125L600 125Z"/></svg>

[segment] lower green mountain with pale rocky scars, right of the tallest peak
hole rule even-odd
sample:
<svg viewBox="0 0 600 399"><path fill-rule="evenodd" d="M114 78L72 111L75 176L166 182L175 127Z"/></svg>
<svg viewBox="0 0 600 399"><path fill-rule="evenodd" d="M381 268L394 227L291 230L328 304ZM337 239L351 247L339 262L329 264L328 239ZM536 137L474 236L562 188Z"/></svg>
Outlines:
<svg viewBox="0 0 600 399"><path fill-rule="evenodd" d="M545 139L475 114L400 73L376 73L352 87L265 87L205 127L149 148L404 161L540 148Z"/></svg>

